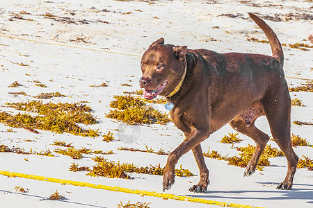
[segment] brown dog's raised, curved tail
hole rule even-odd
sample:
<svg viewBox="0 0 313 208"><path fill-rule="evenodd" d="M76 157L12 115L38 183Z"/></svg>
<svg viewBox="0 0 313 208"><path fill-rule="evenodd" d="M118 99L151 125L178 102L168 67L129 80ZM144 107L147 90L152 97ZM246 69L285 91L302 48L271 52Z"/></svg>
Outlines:
<svg viewBox="0 0 313 208"><path fill-rule="evenodd" d="M248 15L255 21L255 23L262 29L262 31L265 33L266 37L268 38L268 41L271 44L271 49L273 53L273 57L277 58L280 61L280 64L284 64L284 53L282 52L282 46L280 45L280 41L278 40L278 37L274 33L274 31L268 26L265 21L262 19L259 19L256 15L248 12Z"/></svg>

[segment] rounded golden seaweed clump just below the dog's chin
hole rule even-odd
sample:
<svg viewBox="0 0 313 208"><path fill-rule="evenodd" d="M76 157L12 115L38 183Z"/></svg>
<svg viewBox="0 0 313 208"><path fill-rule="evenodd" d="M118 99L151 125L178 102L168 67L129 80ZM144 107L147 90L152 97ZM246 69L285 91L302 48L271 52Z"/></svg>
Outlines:
<svg viewBox="0 0 313 208"><path fill-rule="evenodd" d="M117 119L130 125L141 124L166 124L170 122L168 114L161 113L153 107L146 105L141 98L134 96L115 96L115 101L111 101L110 106L117 110L110 110L107 117Z"/></svg>

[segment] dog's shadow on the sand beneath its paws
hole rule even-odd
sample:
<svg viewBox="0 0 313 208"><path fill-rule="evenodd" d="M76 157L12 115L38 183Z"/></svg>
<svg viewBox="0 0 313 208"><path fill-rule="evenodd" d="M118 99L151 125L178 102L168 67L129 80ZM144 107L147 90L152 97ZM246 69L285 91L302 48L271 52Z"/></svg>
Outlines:
<svg viewBox="0 0 313 208"><path fill-rule="evenodd" d="M257 182L259 184L275 184L272 182ZM298 188L296 186L302 187L303 188ZM312 187L312 188L310 188ZM220 196L221 193L229 193L230 195L232 193L238 194L236 196ZM256 196L259 194L258 197L248 197L247 195L241 196L240 193L254 193ZM266 194L266 196L262 197L262 193L273 193L273 196L269 196ZM275 196L274 196L275 193ZM279 195L279 196L278 196ZM208 188L207 194L202 194L202 195L193 195L193 194L188 194L186 196L191 196L194 198L227 198L227 199L242 199L242 200L308 200L307 203L313 204L313 184L294 184L294 188L292 190L277 190L273 188L273 191L267 190L267 191L255 191L255 190L237 190L237 191L218 191L218 190L210 190Z"/></svg>

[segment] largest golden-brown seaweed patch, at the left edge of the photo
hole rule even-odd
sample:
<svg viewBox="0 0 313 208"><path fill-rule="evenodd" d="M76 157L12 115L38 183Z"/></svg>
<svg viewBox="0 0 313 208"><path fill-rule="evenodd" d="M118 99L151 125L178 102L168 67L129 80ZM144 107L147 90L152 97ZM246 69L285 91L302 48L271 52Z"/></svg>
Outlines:
<svg viewBox="0 0 313 208"><path fill-rule="evenodd" d="M9 107L16 110L38 113L37 116L30 114L16 115L7 112L0 112L0 122L14 128L40 129L51 132L67 132L83 137L97 137L98 130L84 130L77 123L90 125L96 123L96 119L90 114L91 108L79 103L47 103L42 101L28 101L26 103L6 103Z"/></svg>

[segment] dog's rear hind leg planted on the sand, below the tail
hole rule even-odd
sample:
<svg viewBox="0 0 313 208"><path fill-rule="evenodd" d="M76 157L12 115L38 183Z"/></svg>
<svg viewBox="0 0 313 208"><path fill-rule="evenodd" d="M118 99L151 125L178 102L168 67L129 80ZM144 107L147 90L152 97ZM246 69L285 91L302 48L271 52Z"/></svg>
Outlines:
<svg viewBox="0 0 313 208"><path fill-rule="evenodd" d="M262 103L273 139L287 158L287 175L284 181L278 185L277 189L290 190L293 184L294 174L296 173L298 156L291 146L291 101L287 87L285 89L273 89L273 94L269 93Z"/></svg>

